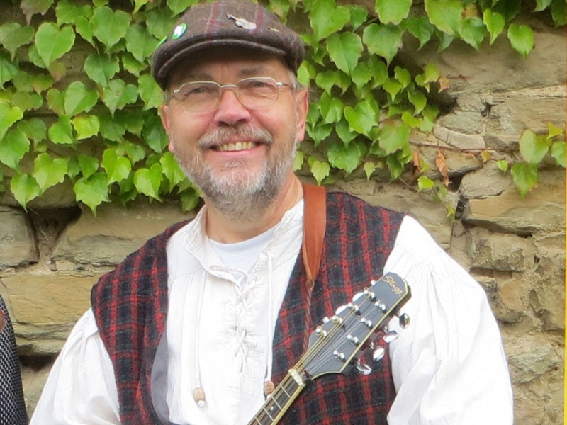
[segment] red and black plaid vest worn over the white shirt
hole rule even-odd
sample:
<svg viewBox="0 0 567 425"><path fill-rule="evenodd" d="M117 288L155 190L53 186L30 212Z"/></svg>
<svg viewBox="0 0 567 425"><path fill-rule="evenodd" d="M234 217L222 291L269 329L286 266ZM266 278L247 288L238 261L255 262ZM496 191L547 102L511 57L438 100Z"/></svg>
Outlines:
<svg viewBox="0 0 567 425"><path fill-rule="evenodd" d="M276 385L305 351L304 341L313 327L382 275L402 219L399 212L354 196L327 194L327 230L313 293L307 296L300 252L276 323L272 374ZM167 314L165 249L169 237L185 224L150 239L103 276L91 293L96 323L114 365L121 424L160 424L150 382ZM373 366L373 373L314 380L280 424L386 425L395 397L390 359L386 354L377 364L371 358L363 360Z"/></svg>

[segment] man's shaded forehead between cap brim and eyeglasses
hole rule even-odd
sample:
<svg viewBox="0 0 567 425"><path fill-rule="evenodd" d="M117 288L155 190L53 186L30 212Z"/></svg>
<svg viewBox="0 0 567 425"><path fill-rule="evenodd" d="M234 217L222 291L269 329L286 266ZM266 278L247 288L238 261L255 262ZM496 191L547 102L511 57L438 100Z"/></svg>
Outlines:
<svg viewBox="0 0 567 425"><path fill-rule="evenodd" d="M193 54L190 63L181 64L172 70L168 86L171 89L191 80L216 81L221 71L233 74L232 77L237 79L248 77L281 79L291 72L279 56L256 50L222 47Z"/></svg>

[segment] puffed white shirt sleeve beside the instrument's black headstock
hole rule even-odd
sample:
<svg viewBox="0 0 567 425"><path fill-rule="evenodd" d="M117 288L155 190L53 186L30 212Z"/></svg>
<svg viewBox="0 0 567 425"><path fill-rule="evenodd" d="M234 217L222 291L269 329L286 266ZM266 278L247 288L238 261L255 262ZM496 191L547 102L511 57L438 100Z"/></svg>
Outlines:
<svg viewBox="0 0 567 425"><path fill-rule="evenodd" d="M396 397L390 425L512 424L512 387L498 324L481 287L411 217L405 217L385 272L412 298L411 324L391 329Z"/></svg>

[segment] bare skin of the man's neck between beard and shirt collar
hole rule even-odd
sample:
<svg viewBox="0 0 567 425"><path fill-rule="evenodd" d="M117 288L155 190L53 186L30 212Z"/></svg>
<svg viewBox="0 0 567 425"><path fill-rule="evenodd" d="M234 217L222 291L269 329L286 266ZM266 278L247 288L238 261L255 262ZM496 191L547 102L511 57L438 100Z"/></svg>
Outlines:
<svg viewBox="0 0 567 425"><path fill-rule="evenodd" d="M254 220L230 220L205 199L207 205L206 234L213 241L223 244L233 244L251 239L274 227L286 211L293 208L302 198L301 181L295 174L291 174L274 201Z"/></svg>

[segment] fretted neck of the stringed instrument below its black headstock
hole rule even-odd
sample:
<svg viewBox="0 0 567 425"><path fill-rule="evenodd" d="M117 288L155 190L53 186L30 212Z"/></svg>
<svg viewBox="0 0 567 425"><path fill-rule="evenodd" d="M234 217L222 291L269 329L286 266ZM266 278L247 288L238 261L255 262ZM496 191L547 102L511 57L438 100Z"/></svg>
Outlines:
<svg viewBox="0 0 567 425"><path fill-rule="evenodd" d="M295 369L289 370L286 378L276 387L274 392L266 399L264 406L254 416L248 425L275 425L281 416L290 407L293 400L305 387L305 381Z"/></svg>

